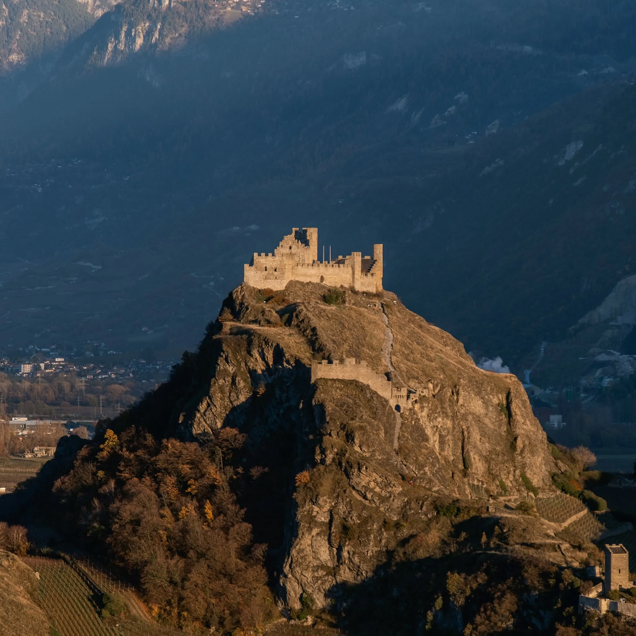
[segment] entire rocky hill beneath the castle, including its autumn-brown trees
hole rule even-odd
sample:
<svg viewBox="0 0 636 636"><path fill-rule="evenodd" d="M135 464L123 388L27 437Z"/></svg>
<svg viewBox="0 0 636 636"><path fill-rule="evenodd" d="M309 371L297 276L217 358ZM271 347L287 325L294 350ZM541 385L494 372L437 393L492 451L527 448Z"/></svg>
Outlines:
<svg viewBox="0 0 636 636"><path fill-rule="evenodd" d="M188 633L282 612L352 636L561 634L611 522L557 494L599 476L548 444L516 377L389 291L242 284L168 382L63 440L0 518L107 559Z"/></svg>

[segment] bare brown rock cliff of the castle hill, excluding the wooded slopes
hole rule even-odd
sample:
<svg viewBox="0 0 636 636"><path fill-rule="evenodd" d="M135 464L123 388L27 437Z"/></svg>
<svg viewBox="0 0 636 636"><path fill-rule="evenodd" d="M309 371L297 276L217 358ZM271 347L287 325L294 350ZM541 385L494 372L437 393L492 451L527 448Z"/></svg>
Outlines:
<svg viewBox="0 0 636 636"><path fill-rule="evenodd" d="M291 607L303 592L322 604L370 576L439 501L548 492L556 470L515 376L477 368L390 292L347 291L342 305L325 292L298 282L276 294L235 289L202 343L196 389L172 415L186 438L247 434L241 471L271 480L245 494L251 523L280 546ZM344 358L408 387L415 403L398 413L357 380L311 383L312 360Z"/></svg>

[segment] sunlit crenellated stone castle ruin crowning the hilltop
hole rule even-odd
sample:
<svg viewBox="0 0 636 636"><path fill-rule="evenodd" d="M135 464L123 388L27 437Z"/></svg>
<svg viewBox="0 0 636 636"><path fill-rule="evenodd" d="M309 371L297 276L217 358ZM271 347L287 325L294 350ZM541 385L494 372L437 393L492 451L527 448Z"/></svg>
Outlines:
<svg viewBox="0 0 636 636"><path fill-rule="evenodd" d="M318 228L293 228L273 255L254 252L251 262L244 266L244 281L258 289L277 291L290 280L378 293L382 291L382 244L373 245L373 258L351 252L333 261L319 261Z"/></svg>

